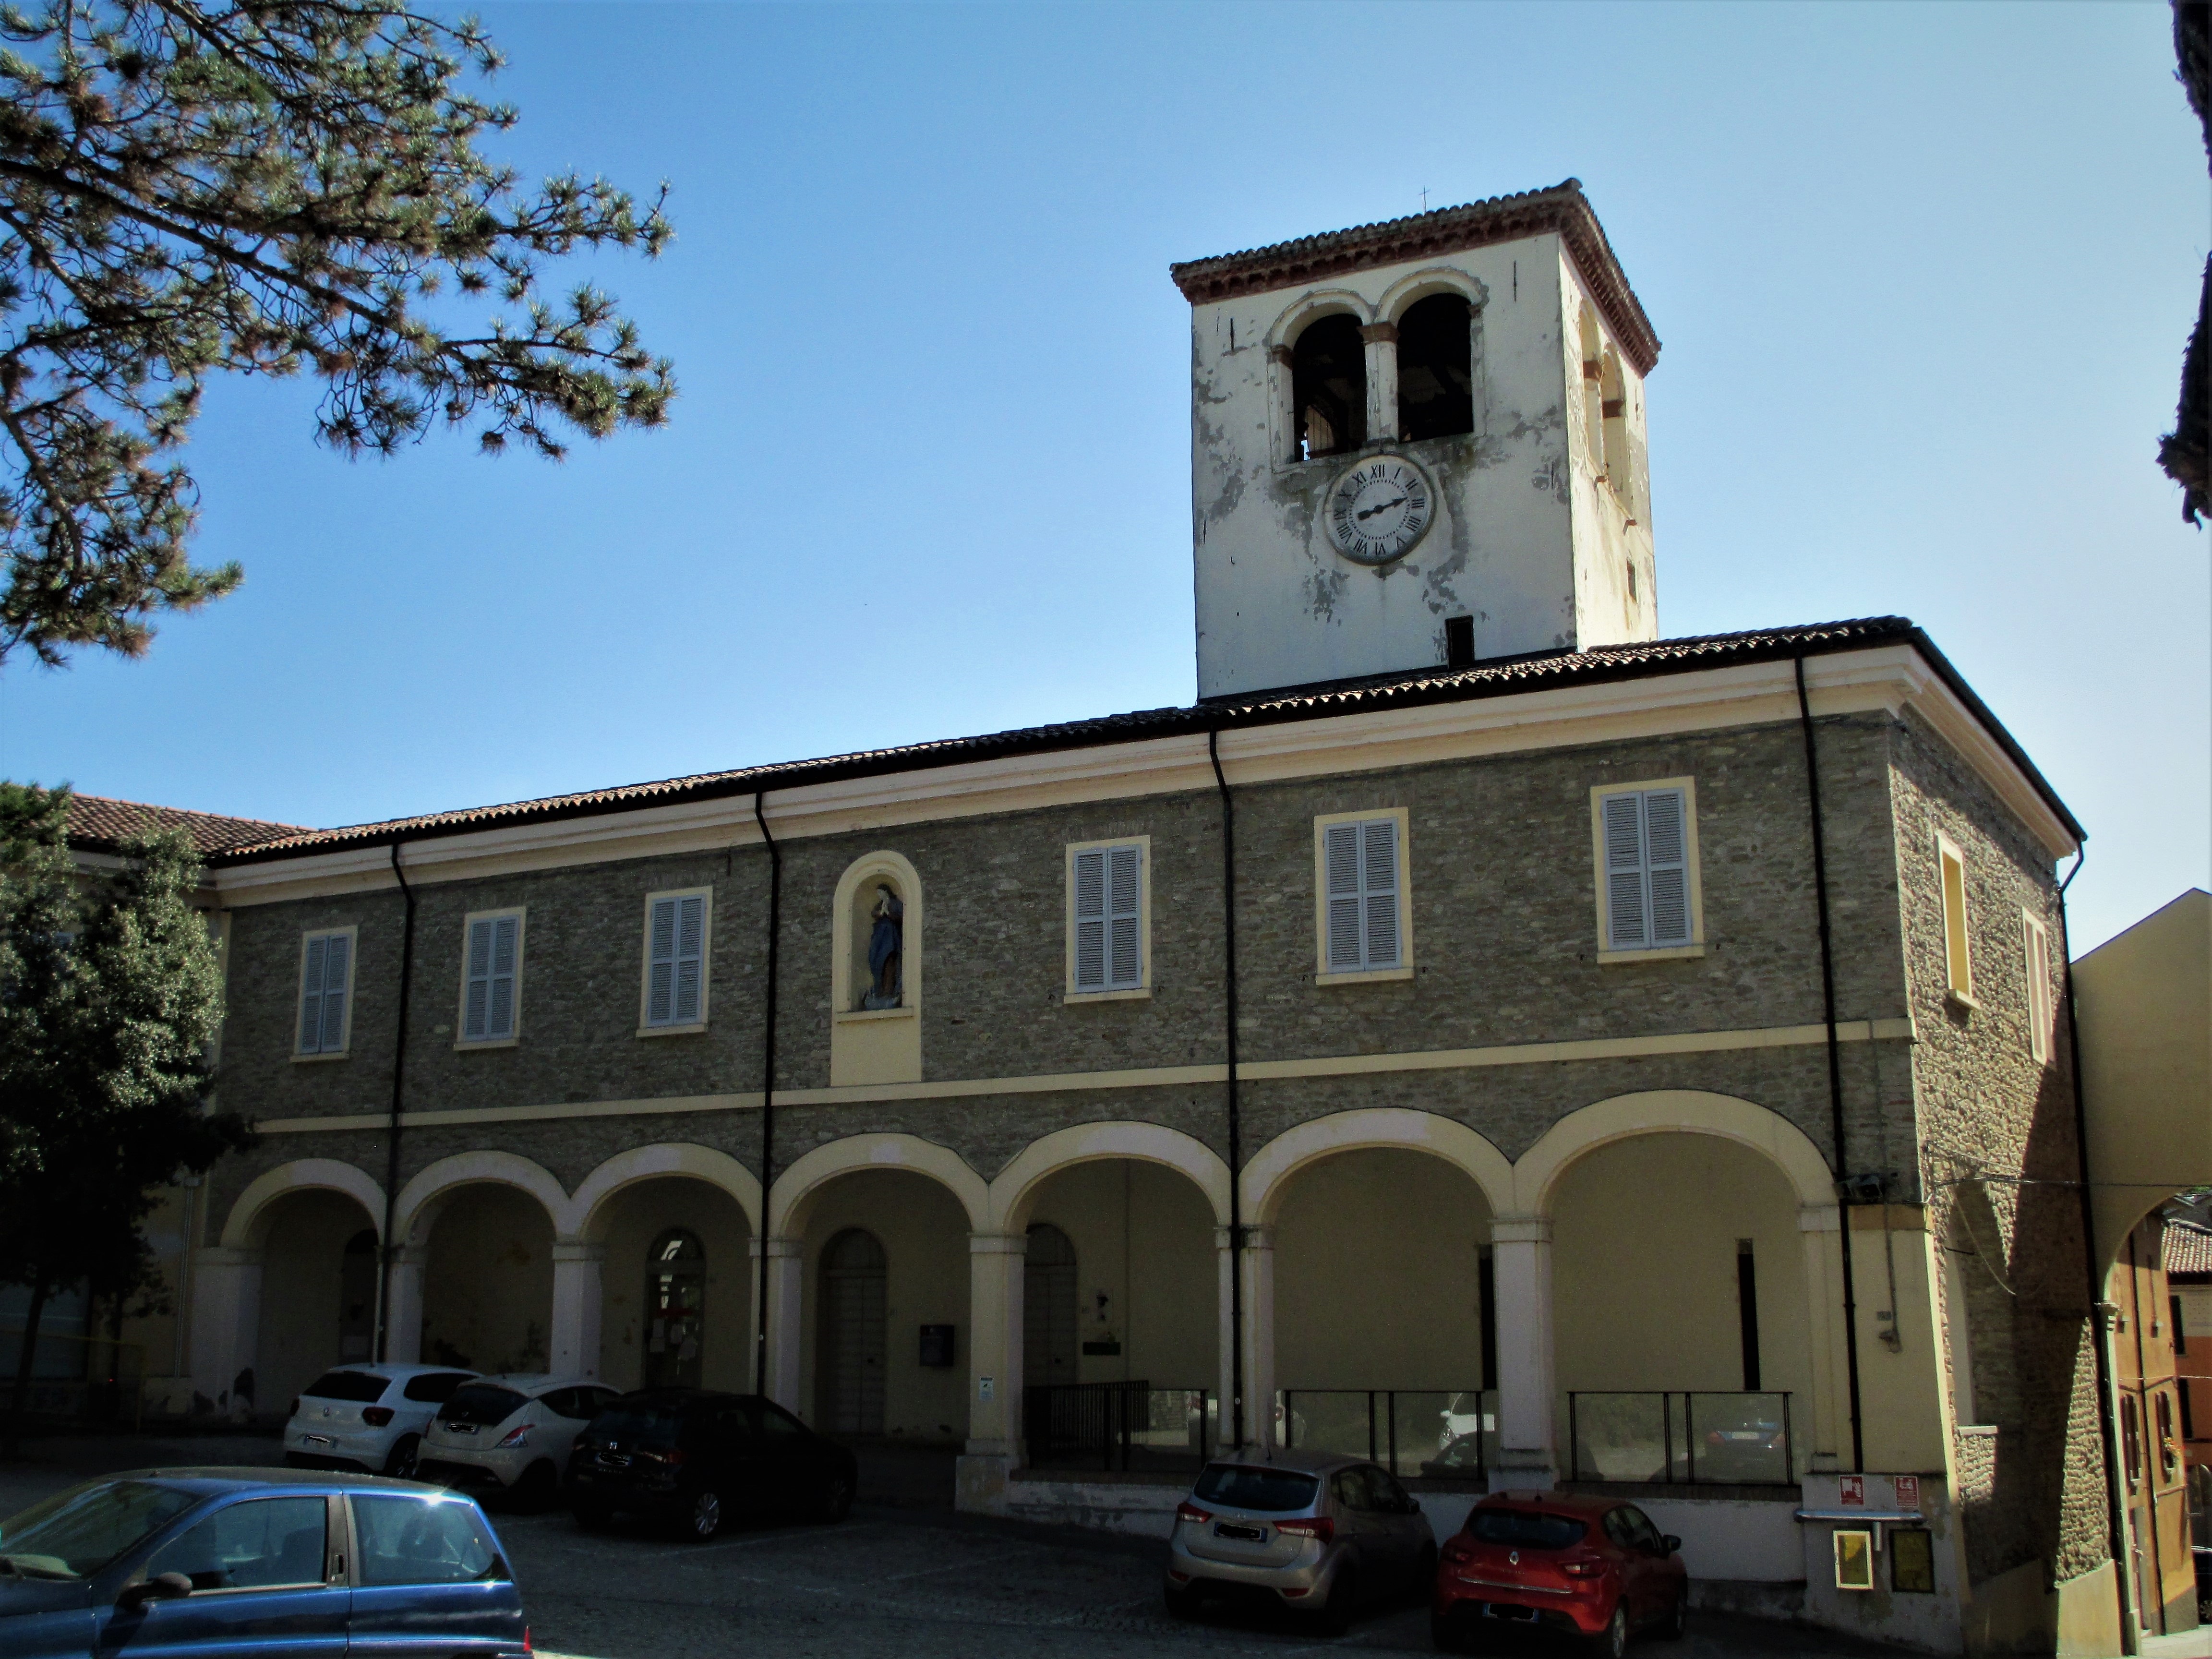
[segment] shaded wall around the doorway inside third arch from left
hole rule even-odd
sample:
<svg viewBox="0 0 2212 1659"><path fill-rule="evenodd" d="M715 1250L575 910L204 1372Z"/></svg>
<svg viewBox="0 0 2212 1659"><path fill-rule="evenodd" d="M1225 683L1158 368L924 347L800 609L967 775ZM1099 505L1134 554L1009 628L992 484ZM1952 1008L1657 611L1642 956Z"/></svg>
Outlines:
<svg viewBox="0 0 2212 1659"><path fill-rule="evenodd" d="M639 1181L611 1203L599 1263L599 1378L617 1389L641 1387L646 1252L668 1228L690 1228L706 1250L701 1387L752 1394L752 1232L737 1199L681 1177Z"/></svg>

